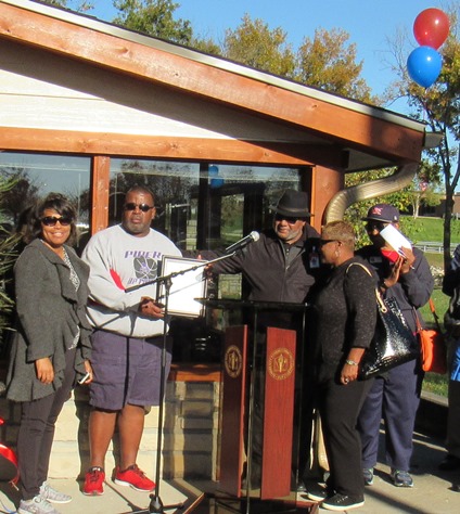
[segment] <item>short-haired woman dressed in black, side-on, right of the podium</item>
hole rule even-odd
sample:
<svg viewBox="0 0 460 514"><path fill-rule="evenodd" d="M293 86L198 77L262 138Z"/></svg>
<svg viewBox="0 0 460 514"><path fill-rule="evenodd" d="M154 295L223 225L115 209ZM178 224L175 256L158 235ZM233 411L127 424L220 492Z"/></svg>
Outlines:
<svg viewBox="0 0 460 514"><path fill-rule="evenodd" d="M321 232L321 254L331 272L312 299L315 389L330 476L325 488L307 488L323 509L348 511L365 503L361 447L356 422L372 381L358 381L360 360L376 322L375 279L354 256L355 233L344 221Z"/></svg>

